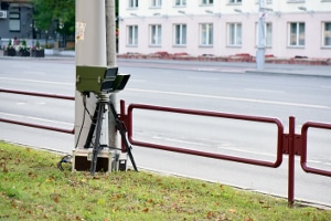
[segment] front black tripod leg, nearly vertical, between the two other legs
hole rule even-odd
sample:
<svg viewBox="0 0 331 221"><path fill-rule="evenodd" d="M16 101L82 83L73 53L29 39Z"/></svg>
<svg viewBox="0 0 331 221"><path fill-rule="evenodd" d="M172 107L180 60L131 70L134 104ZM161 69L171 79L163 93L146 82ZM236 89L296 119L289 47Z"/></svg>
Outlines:
<svg viewBox="0 0 331 221"><path fill-rule="evenodd" d="M95 141L93 147L93 158L90 162L90 175L95 175L97 160L98 160L98 152L100 147L100 134L102 134L102 126L103 126L103 117L105 105L104 103L98 104L98 113L97 113L97 120L96 120L96 134L95 134Z"/></svg>

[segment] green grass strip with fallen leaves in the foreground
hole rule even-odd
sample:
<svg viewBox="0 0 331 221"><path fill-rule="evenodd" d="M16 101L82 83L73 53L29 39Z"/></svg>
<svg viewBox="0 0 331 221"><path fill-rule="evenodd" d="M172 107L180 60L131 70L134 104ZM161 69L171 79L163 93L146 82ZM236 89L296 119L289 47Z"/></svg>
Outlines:
<svg viewBox="0 0 331 221"><path fill-rule="evenodd" d="M61 158L0 141L0 220L331 220L330 210L288 208L286 199L221 183L146 171L61 171Z"/></svg>

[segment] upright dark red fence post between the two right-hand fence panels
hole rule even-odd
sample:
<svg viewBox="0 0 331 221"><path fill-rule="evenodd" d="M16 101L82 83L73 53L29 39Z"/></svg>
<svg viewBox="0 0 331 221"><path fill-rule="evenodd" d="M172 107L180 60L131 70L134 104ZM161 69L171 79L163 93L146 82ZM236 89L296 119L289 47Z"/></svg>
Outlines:
<svg viewBox="0 0 331 221"><path fill-rule="evenodd" d="M288 155L288 206L291 208L295 203L295 136L296 118L289 117L289 155Z"/></svg>

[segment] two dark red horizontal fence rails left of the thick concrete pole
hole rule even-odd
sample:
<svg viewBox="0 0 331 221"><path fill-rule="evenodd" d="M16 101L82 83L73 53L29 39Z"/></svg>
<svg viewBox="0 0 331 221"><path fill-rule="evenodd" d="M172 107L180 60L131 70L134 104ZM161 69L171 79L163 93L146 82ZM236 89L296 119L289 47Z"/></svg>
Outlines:
<svg viewBox="0 0 331 221"><path fill-rule="evenodd" d="M39 96L39 97L47 97L47 98L75 101L75 97L73 97L73 96L44 94L44 93L36 93L36 92L22 92L22 91L0 88L0 93L20 94L20 95L26 95L26 96ZM1 118L1 117L0 117L0 122L21 125L21 126L26 126L26 127L34 127L34 128L39 128L39 129L60 131L60 133L65 133L65 134L75 134L74 128L73 129L63 129L63 128L51 127L51 126L46 126L46 125L39 125L39 124L31 124L31 123L24 123L24 122L19 122L19 120L6 119L6 118Z"/></svg>

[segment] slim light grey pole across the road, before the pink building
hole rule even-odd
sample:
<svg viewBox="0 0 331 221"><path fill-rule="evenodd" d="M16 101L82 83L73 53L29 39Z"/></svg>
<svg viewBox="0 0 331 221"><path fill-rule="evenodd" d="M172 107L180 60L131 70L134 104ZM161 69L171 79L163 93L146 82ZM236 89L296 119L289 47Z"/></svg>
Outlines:
<svg viewBox="0 0 331 221"><path fill-rule="evenodd" d="M259 0L258 2L258 24L257 24L257 52L256 52L256 65L258 71L265 69L265 53L266 53L266 0Z"/></svg>

